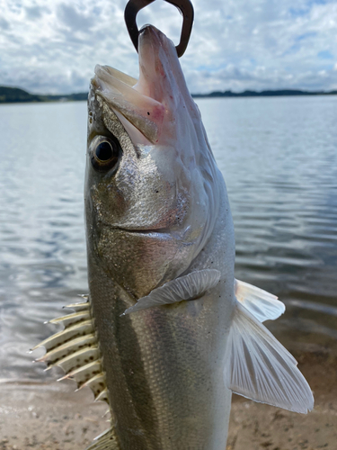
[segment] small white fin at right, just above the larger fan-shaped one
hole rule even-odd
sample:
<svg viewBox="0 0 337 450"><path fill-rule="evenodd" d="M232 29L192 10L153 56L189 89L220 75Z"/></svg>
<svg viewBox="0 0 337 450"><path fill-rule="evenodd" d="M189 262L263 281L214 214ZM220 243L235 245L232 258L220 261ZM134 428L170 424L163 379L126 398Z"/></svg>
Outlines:
<svg viewBox="0 0 337 450"><path fill-rule="evenodd" d="M261 322L278 319L286 311L284 303L279 302L276 295L252 284L235 280L234 291L236 299Z"/></svg>

